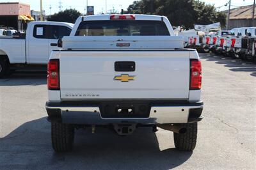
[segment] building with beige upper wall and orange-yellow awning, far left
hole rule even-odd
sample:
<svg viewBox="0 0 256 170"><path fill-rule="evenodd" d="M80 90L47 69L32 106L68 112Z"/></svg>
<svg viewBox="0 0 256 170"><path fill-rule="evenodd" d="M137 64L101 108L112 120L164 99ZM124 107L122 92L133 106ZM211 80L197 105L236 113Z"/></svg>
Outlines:
<svg viewBox="0 0 256 170"><path fill-rule="evenodd" d="M0 3L0 27L12 27L25 31L31 17L30 5L23 3Z"/></svg>

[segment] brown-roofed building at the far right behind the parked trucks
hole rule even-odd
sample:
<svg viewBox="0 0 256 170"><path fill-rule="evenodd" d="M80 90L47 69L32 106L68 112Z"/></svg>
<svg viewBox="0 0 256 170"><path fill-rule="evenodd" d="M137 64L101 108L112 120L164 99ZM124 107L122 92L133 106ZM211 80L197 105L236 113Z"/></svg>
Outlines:
<svg viewBox="0 0 256 170"><path fill-rule="evenodd" d="M228 16L228 10L225 11ZM235 27L252 27L256 22L252 22L253 5L241 6L230 10L229 28ZM256 13L255 13L256 14ZM254 15L255 18L255 15Z"/></svg>

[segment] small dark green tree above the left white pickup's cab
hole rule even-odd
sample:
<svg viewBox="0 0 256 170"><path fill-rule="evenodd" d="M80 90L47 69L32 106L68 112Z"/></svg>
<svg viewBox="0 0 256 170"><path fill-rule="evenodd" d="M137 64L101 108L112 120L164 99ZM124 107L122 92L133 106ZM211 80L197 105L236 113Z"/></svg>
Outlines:
<svg viewBox="0 0 256 170"><path fill-rule="evenodd" d="M75 23L76 19L82 14L74 9L66 9L62 12L54 13L49 16L47 20L49 21L58 21L58 22L71 22Z"/></svg>

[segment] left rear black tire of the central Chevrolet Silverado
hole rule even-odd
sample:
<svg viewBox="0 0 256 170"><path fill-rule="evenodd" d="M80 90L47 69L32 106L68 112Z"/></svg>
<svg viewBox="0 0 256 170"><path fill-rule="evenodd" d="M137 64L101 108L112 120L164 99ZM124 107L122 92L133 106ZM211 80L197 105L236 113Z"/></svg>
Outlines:
<svg viewBox="0 0 256 170"><path fill-rule="evenodd" d="M52 148L56 152L72 151L74 145L74 126L63 123L52 124Z"/></svg>

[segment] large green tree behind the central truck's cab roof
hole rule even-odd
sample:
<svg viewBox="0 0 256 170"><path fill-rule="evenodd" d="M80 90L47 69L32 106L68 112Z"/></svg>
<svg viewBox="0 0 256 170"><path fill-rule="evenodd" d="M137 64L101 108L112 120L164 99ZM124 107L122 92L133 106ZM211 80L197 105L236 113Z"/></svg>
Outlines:
<svg viewBox="0 0 256 170"><path fill-rule="evenodd" d="M125 13L165 15L173 26L193 28L195 24L221 22L226 25L225 13L199 0L141 0L134 1Z"/></svg>

